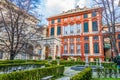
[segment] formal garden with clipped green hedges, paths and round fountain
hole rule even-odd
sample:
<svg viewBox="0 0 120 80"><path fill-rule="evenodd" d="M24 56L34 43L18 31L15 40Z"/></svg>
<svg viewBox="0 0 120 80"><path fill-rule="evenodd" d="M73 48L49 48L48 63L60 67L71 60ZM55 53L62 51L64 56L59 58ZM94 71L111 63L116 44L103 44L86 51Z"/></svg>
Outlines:
<svg viewBox="0 0 120 80"><path fill-rule="evenodd" d="M1 60L0 80L120 80L120 69L113 62L74 60Z"/></svg>

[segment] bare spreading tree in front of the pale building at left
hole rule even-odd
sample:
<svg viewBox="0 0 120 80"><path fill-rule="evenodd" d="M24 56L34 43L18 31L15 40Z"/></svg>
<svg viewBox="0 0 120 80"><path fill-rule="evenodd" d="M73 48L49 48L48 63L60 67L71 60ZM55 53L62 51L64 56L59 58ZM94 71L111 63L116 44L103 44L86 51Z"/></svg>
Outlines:
<svg viewBox="0 0 120 80"><path fill-rule="evenodd" d="M17 6L11 1L0 1L0 49L13 60L25 50L25 44L41 32L36 27L39 20L28 14L31 0L16 0Z"/></svg>

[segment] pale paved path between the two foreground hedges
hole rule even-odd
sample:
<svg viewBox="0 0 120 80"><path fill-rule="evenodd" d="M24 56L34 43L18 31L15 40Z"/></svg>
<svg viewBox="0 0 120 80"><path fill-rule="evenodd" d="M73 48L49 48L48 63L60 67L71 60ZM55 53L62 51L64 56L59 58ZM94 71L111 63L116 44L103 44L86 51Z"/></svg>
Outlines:
<svg viewBox="0 0 120 80"><path fill-rule="evenodd" d="M70 78L74 76L75 74L77 74L78 72L80 71L72 70L71 67L65 67L65 71L63 73L64 76L56 80L70 80Z"/></svg>

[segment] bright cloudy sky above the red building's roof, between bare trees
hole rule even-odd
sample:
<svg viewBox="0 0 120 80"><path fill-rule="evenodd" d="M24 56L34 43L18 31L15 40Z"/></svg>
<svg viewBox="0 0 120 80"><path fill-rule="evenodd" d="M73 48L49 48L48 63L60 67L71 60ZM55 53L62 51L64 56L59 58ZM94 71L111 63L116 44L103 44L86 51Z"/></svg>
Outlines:
<svg viewBox="0 0 120 80"><path fill-rule="evenodd" d="M41 0L38 8L40 13L41 24L47 24L46 18L62 13L70 9L74 9L76 5L79 7L88 6L89 0Z"/></svg>

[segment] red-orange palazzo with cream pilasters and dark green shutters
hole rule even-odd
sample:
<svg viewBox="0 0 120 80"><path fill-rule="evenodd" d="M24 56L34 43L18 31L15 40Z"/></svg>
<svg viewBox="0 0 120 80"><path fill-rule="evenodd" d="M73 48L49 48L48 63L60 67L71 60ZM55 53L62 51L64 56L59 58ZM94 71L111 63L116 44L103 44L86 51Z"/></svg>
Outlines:
<svg viewBox="0 0 120 80"><path fill-rule="evenodd" d="M75 8L51 16L48 20L48 37L62 41L61 58L81 58L90 61L104 59L102 39L102 8Z"/></svg>

